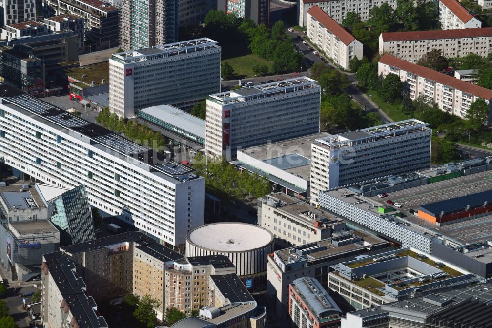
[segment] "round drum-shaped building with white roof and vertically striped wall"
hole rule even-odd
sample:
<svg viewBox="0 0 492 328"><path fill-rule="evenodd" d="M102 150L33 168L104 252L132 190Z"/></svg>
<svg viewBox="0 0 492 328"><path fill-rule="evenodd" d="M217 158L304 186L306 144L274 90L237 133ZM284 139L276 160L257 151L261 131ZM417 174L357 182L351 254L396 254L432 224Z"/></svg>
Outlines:
<svg viewBox="0 0 492 328"><path fill-rule="evenodd" d="M196 227L186 236L186 256L225 255L240 278L265 273L267 255L273 251L274 235L247 223L213 223Z"/></svg>

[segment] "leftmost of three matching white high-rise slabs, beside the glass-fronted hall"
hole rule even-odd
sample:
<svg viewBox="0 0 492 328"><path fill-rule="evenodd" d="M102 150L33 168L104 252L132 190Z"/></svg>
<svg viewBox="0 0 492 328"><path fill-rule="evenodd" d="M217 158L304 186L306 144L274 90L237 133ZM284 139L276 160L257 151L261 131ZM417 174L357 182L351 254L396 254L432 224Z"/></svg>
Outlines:
<svg viewBox="0 0 492 328"><path fill-rule="evenodd" d="M153 105L190 106L220 91L222 49L202 38L113 54L109 109L134 117Z"/></svg>

